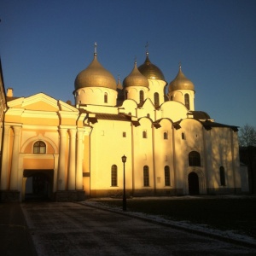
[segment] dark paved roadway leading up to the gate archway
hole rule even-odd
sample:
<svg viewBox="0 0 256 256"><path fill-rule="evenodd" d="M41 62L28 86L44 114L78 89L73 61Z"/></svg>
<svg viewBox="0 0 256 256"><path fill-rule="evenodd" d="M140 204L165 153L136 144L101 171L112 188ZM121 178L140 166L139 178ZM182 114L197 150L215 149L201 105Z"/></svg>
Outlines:
<svg viewBox="0 0 256 256"><path fill-rule="evenodd" d="M256 249L76 203L21 205L38 255L255 255Z"/></svg>

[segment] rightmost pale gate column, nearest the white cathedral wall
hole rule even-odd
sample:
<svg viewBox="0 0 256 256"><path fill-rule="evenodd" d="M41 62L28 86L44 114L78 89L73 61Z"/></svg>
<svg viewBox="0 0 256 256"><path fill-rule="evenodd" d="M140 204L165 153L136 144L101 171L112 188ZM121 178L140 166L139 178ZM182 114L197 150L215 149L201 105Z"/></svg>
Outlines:
<svg viewBox="0 0 256 256"><path fill-rule="evenodd" d="M83 189L83 136L84 131L78 131L77 144L77 172L76 172L76 189Z"/></svg>

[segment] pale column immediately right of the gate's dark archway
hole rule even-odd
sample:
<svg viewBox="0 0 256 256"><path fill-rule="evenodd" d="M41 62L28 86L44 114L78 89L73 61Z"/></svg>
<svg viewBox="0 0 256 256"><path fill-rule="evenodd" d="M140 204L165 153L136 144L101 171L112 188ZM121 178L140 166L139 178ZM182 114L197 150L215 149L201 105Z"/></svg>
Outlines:
<svg viewBox="0 0 256 256"><path fill-rule="evenodd" d="M66 188L66 176L65 176L65 152L67 147L67 129L60 129L60 158L59 158L59 170L57 190L65 190Z"/></svg>

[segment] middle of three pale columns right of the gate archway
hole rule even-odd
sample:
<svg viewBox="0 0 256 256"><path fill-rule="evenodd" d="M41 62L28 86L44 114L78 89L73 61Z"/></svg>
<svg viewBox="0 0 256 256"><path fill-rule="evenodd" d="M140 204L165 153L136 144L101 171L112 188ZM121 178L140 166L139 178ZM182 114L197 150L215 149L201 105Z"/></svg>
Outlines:
<svg viewBox="0 0 256 256"><path fill-rule="evenodd" d="M75 190L76 188L76 130L69 129L69 164L67 189Z"/></svg>

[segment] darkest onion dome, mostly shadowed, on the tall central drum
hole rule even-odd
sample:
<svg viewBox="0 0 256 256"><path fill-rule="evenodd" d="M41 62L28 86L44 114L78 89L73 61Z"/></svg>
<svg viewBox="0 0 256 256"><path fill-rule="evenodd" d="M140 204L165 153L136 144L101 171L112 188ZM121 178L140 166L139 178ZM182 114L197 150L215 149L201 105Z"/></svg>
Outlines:
<svg viewBox="0 0 256 256"><path fill-rule="evenodd" d="M147 52L147 56L146 56L146 60L143 63L143 65L141 65L140 67L138 67L138 70L147 78L147 79L160 79L165 81L165 76L164 74L160 71L159 67L156 67L154 64L152 64L149 61L148 58L148 52Z"/></svg>

